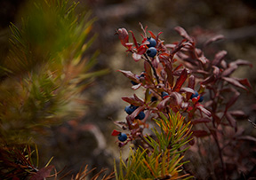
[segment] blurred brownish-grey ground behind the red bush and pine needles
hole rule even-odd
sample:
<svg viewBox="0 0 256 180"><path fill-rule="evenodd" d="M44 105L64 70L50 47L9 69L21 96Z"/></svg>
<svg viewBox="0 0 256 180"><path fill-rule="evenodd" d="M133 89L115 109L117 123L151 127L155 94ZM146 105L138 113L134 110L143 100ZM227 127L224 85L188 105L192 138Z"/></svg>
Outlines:
<svg viewBox="0 0 256 180"><path fill-rule="evenodd" d="M27 0L0 0L0 46L1 55L8 50L10 22L19 23L20 11ZM189 35L197 38L198 46L207 37L215 34L225 35L225 40L212 44L212 51L228 51L227 59L246 59L253 67L241 67L237 77L248 78L252 83L252 93L245 91L236 103L244 110L251 121L256 121L256 2L254 0L80 0L77 12L91 11L96 17L93 33L97 34L91 51L100 50L95 70L109 69L109 73L100 76L84 92L90 101L82 121L68 121L52 128L52 134L41 143L40 163L44 164L52 156L52 164L58 170L67 167L73 172L79 171L84 164L92 168L113 169L113 158L119 157L116 138L111 131L118 129L114 121L125 118L121 97L131 96L134 92L131 83L116 70L131 70L140 73L141 62L134 62L119 43L115 30L125 27L140 38L140 25L148 26L165 43L180 40L173 27L184 27ZM210 53L210 52L209 52ZM209 55L211 58L211 55ZM137 92L136 92L137 93ZM139 92L140 94L140 92ZM250 127L248 121L239 121L244 127ZM247 134L256 136L255 129L248 128ZM127 151L128 147L123 151Z"/></svg>

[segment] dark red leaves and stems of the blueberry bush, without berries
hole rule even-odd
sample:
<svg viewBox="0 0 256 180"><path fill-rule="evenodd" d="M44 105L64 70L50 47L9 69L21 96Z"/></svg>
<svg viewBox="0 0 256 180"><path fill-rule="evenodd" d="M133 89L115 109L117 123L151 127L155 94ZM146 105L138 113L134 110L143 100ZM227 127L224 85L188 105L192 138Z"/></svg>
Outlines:
<svg viewBox="0 0 256 180"><path fill-rule="evenodd" d="M236 117L244 117L245 114L241 110L231 111L230 108L235 105L240 96L238 90L249 91L252 88L247 79L237 79L230 75L238 67L252 67L252 64L241 59L228 63L226 61L227 51L216 52L213 59L207 59L204 56L204 51L196 48L196 40L189 36L182 27L175 28L183 37L178 43L164 44L164 41L159 37L161 33L154 35L148 31L149 35L156 40L157 51L155 57L149 57L146 43L147 27L144 29L141 26L141 28L144 32L141 43L137 42L130 31L134 43L132 46L127 46L127 31L124 28L117 31L119 38L121 36L121 43L127 51L132 52L132 58L135 61L144 60L144 72L141 78L137 78L138 75L132 74L131 71L119 70L127 78L140 84L136 87L133 86L132 89L137 90L141 87L145 90L144 99L135 94L133 97L123 98L125 102L138 106L131 115L126 116L126 121L122 124L123 129L131 131L129 141L143 137L143 129L148 127L149 114L157 119L160 112L166 114L170 113L171 110L172 112L179 111L184 115L186 114L187 121L194 124L194 137L212 137L214 139L219 148L223 177L226 177L223 150L220 148L220 145L225 143L223 129L228 127L234 129L234 132L237 131ZM204 45L209 45L222 38L223 35L215 35ZM178 62L177 59L180 59L182 63L179 63L180 61ZM196 91L198 96L190 98ZM224 93L228 93L230 98L224 97ZM203 98L204 102L202 102ZM136 119L141 111L145 111L147 114L143 121ZM241 137L240 139L252 140L252 137ZM231 142L234 138L229 140ZM126 144L127 142L120 146ZM143 145L141 144L141 146Z"/></svg>

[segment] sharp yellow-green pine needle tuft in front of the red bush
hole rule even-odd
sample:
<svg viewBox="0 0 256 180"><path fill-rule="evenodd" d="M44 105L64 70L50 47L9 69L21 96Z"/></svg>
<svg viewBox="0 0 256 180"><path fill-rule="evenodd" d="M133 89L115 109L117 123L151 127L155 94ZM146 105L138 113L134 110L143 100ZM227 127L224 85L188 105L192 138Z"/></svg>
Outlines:
<svg viewBox="0 0 256 180"><path fill-rule="evenodd" d="M142 147L131 150L127 163L120 157L119 170L115 164L116 180L122 179L188 179L188 174L182 172L183 155L188 147L191 136L191 126L184 122L180 113L170 113L156 120L160 128L158 132L153 129L156 139L145 137L148 148Z"/></svg>

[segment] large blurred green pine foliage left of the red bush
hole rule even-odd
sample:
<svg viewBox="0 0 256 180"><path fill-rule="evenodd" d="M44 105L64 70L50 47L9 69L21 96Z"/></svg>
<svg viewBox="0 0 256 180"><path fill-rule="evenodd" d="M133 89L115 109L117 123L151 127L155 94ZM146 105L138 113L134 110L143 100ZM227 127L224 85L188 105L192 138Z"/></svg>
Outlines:
<svg viewBox="0 0 256 180"><path fill-rule="evenodd" d="M21 24L11 24L11 48L0 72L4 144L33 142L46 126L82 115L85 99L81 92L93 77L106 73L89 71L95 56L88 60L84 51L95 38L94 20L90 12L76 14L76 5L31 1Z"/></svg>

